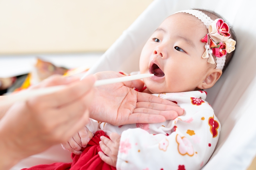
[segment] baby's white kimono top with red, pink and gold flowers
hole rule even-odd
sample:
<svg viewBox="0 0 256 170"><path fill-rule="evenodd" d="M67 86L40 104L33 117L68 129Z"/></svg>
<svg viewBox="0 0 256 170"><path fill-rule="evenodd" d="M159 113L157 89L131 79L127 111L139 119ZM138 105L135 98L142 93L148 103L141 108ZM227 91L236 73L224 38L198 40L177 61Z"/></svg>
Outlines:
<svg viewBox="0 0 256 170"><path fill-rule="evenodd" d="M184 114L163 123L113 126L93 119L92 133L103 130L121 134L117 170L198 170L207 163L217 144L220 123L206 92L153 94L173 101Z"/></svg>

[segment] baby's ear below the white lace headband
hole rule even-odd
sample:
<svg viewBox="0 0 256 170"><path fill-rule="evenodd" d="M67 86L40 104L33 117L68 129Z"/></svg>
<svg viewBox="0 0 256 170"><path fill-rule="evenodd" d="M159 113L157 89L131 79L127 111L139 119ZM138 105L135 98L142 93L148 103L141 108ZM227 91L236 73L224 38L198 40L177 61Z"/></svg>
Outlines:
<svg viewBox="0 0 256 170"><path fill-rule="evenodd" d="M199 89L211 88L220 78L222 71L220 69L210 69L207 72L206 78L199 84Z"/></svg>

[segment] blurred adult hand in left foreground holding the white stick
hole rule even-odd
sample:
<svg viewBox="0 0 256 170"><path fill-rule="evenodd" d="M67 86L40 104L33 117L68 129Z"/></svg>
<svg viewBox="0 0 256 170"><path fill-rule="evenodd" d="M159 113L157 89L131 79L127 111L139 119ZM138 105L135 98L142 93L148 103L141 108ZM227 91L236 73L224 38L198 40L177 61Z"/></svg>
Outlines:
<svg viewBox="0 0 256 170"><path fill-rule="evenodd" d="M66 88L13 104L0 120L0 169L9 169L79 131L89 118L94 81L93 76L82 81L54 76L37 88L61 84Z"/></svg>

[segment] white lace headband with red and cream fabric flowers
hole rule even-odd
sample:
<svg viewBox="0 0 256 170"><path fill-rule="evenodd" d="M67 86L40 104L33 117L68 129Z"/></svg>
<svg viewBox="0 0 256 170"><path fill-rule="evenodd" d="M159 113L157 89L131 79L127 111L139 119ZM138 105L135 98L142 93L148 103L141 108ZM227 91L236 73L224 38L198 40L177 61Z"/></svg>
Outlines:
<svg viewBox="0 0 256 170"><path fill-rule="evenodd" d="M213 56L215 56L217 63L216 69L222 70L225 65L227 53L234 51L236 45L236 41L230 38L228 24L220 18L213 21L209 16L199 10L189 9L176 13L179 12L189 13L203 22L208 29L208 34L201 39L202 42L206 43L202 58L208 58L207 62L215 64L213 59Z"/></svg>

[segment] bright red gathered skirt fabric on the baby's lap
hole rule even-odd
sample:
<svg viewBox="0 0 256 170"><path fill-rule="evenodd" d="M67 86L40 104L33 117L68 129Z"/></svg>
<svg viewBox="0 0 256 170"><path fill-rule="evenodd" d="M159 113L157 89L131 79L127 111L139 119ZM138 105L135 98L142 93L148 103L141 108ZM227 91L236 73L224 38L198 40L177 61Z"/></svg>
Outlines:
<svg viewBox="0 0 256 170"><path fill-rule="evenodd" d="M98 152L102 151L99 146L101 136L109 138L104 131L97 131L87 146L83 148L81 155L71 154L73 160L71 163L42 164L22 170L116 170L115 167L100 159Z"/></svg>

